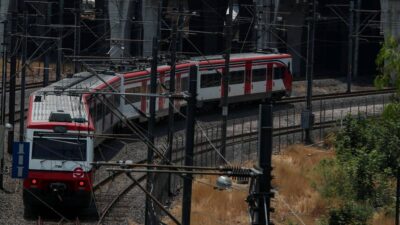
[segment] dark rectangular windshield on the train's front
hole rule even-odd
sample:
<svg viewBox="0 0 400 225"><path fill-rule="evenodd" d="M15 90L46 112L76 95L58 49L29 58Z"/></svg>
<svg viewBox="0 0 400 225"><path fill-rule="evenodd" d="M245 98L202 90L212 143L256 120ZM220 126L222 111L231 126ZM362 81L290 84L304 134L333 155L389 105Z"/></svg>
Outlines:
<svg viewBox="0 0 400 225"><path fill-rule="evenodd" d="M35 137L32 159L86 161L85 139Z"/></svg>

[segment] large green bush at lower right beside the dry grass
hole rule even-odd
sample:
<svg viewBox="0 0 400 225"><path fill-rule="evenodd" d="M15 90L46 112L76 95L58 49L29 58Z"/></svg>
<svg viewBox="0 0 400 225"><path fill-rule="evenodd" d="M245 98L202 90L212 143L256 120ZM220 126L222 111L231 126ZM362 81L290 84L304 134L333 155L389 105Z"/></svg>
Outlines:
<svg viewBox="0 0 400 225"><path fill-rule="evenodd" d="M338 133L336 158L323 160L316 171L315 187L321 195L339 203L322 224L366 224L367 209L386 210L394 205L393 181L399 165L400 106L393 104L379 119L344 120Z"/></svg>

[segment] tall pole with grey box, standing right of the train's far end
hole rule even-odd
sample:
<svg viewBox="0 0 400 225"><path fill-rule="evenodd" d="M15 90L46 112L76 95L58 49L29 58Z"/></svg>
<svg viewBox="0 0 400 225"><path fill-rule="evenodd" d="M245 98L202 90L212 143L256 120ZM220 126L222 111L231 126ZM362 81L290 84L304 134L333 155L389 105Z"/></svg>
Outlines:
<svg viewBox="0 0 400 225"><path fill-rule="evenodd" d="M312 11L308 19L308 49L307 49L307 107L302 112L302 128L305 129L305 142L312 143L312 125L314 123L314 114L312 113L312 86L314 76L314 41L315 41L315 23L317 21L317 0L313 0Z"/></svg>

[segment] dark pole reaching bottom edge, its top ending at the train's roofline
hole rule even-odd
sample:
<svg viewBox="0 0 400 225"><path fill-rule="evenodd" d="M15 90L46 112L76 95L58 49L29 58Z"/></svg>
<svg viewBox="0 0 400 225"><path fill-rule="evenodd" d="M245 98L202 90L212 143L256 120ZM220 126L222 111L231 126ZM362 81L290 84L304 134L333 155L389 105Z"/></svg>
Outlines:
<svg viewBox="0 0 400 225"><path fill-rule="evenodd" d="M186 147L185 147L185 166L193 166L193 148L194 148L194 125L196 113L197 96L197 66L190 67L189 74L189 93L190 99L187 104L186 112ZM182 197L182 225L190 225L190 212L192 203L192 175L186 174L183 181Z"/></svg>

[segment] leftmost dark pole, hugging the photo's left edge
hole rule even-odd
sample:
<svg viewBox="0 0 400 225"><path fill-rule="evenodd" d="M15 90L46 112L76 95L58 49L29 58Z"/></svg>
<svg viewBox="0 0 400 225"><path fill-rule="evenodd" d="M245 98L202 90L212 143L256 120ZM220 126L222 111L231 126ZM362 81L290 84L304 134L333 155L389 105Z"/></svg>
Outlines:
<svg viewBox="0 0 400 225"><path fill-rule="evenodd" d="M3 21L3 68L2 68L2 78L1 78L1 121L0 124L4 125L6 123L6 100L7 100L7 20ZM3 136L1 136L3 137ZM1 148L2 146L0 146Z"/></svg>

